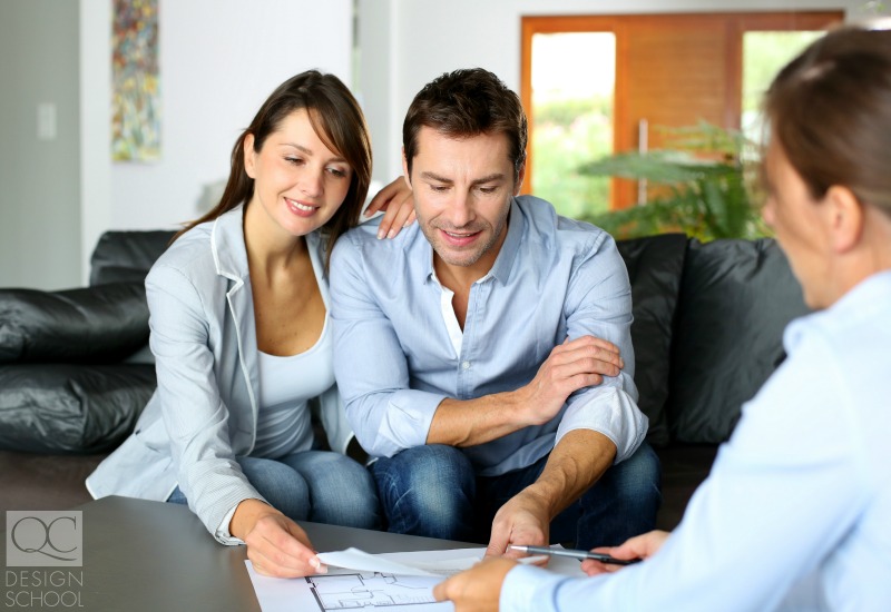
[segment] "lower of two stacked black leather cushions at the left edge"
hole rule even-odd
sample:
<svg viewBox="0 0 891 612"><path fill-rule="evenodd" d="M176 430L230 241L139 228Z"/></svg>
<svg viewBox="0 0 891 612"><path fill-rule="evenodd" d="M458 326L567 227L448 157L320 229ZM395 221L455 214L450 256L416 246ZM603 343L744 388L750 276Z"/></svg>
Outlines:
<svg viewBox="0 0 891 612"><path fill-rule="evenodd" d="M0 367L0 448L99 453L133 431L155 391L146 365Z"/></svg>

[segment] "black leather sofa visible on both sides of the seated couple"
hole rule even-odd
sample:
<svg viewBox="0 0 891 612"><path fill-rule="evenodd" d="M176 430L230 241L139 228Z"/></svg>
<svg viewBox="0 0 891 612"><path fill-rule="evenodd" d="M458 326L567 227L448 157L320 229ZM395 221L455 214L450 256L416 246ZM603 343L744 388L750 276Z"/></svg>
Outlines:
<svg viewBox="0 0 891 612"><path fill-rule="evenodd" d="M106 233L87 288L0 289L0 511L90 500L84 480L155 386L143 279L172 235ZM807 310L771 239L669 234L619 249L634 294L639 404L663 466L658 525L672 529L742 403L782 361L783 327Z"/></svg>

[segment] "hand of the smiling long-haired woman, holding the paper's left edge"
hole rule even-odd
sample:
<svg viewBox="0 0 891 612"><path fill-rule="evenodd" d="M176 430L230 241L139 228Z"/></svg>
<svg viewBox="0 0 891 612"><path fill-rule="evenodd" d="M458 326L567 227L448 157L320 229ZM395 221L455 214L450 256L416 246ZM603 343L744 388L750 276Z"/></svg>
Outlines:
<svg viewBox="0 0 891 612"><path fill-rule="evenodd" d="M326 571L300 525L260 500L238 504L229 533L244 540L247 559L261 574L300 578Z"/></svg>

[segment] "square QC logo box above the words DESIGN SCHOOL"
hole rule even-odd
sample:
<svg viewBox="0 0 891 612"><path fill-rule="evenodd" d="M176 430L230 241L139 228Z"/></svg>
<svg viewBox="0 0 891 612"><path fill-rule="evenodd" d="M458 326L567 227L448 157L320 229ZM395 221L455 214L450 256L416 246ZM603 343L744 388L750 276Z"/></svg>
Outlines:
<svg viewBox="0 0 891 612"><path fill-rule="evenodd" d="M8 567L82 565L82 511L7 511Z"/></svg>

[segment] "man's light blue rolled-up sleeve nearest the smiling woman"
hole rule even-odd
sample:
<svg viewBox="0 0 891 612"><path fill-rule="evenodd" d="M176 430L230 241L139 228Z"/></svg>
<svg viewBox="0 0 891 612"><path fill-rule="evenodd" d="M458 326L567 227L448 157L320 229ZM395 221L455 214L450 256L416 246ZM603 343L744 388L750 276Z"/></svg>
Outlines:
<svg viewBox="0 0 891 612"><path fill-rule="evenodd" d="M392 323L370 294L361 248L350 236L331 261L334 376L356 438L371 456L425 444L446 395L409 388L409 366Z"/></svg>

